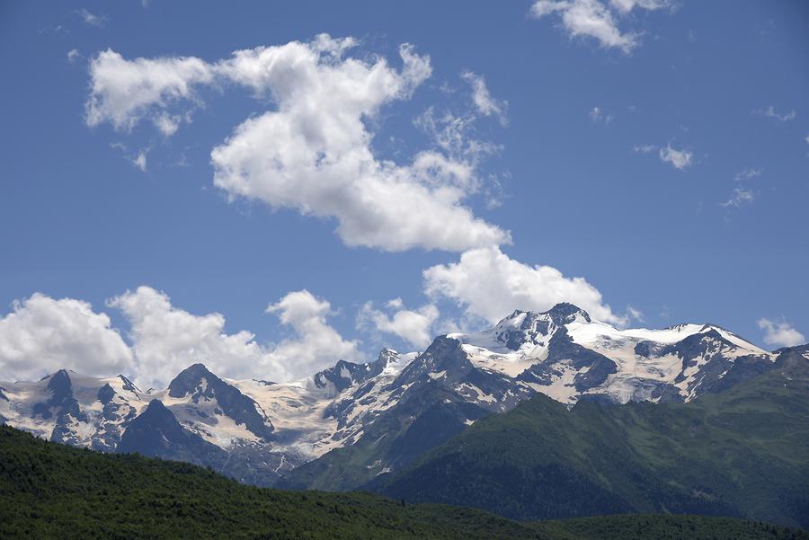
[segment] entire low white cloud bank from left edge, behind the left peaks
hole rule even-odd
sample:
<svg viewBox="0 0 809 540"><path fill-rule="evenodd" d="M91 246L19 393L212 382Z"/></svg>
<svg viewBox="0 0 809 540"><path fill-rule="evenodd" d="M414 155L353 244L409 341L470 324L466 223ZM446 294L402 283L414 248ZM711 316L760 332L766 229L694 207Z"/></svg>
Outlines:
<svg viewBox="0 0 809 540"><path fill-rule="evenodd" d="M0 380L35 380L61 368L91 376L123 374L144 388L161 388L200 362L219 376L283 381L312 375L338 359L358 360L356 341L346 341L326 318L331 306L307 290L270 305L294 337L261 344L253 332L228 333L222 314L191 314L164 292L138 287L107 301L129 322L128 338L110 317L73 298L35 293L0 318Z"/></svg>

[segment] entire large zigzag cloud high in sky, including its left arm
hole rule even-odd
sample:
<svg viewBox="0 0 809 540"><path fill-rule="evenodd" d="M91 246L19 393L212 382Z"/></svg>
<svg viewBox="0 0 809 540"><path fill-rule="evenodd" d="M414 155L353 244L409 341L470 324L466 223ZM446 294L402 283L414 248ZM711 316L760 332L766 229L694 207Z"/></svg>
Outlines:
<svg viewBox="0 0 809 540"><path fill-rule="evenodd" d="M126 60L108 50L91 65L86 121L129 129L148 119L171 135L190 113L178 116L171 107L193 106L196 86L241 84L274 108L245 120L211 152L214 184L231 199L333 218L337 234L351 246L463 251L509 242L507 232L463 205L479 187L469 155L437 148L396 164L372 150L368 120L384 105L409 99L431 75L430 58L403 45L397 69L385 58L347 57L354 45L321 35L307 43L236 51L215 64L199 58Z"/></svg>

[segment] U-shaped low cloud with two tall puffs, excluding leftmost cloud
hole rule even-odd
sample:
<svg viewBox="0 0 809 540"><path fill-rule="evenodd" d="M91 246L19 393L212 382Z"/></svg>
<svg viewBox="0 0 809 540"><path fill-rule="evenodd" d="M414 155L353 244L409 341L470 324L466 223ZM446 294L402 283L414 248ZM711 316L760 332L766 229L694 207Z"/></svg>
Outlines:
<svg viewBox="0 0 809 540"><path fill-rule="evenodd" d="M225 317L195 315L175 307L163 292L138 287L109 305L117 307L130 324L141 385L162 387L182 369L201 362L219 376L260 376L276 381L311 375L338 359L357 359L357 343L345 341L325 321L330 305L308 291L291 292L270 305L281 323L292 327L295 339L266 346L253 332L225 331Z"/></svg>

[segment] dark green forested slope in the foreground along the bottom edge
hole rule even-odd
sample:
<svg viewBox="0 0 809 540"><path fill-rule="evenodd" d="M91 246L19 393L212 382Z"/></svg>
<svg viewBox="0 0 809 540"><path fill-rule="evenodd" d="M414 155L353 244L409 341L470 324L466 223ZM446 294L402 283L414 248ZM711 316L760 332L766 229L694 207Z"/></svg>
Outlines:
<svg viewBox="0 0 809 540"><path fill-rule="evenodd" d="M258 489L193 465L111 456L0 427L0 538L809 540L735 519L627 516L516 523L361 493Z"/></svg>

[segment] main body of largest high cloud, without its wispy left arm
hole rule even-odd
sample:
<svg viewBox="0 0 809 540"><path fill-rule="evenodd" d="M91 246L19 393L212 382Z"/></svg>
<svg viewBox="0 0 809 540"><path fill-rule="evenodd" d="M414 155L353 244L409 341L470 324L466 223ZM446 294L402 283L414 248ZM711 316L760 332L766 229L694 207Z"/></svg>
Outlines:
<svg viewBox="0 0 809 540"><path fill-rule="evenodd" d="M397 72L381 58L343 60L335 56L342 43L325 44L325 57L319 42L236 53L233 76L270 92L278 111L246 120L214 148L214 183L233 198L334 217L351 246L461 251L506 242L460 205L475 189L470 164L432 151L407 165L373 155L363 119L409 96L430 75L429 58L403 46Z"/></svg>

